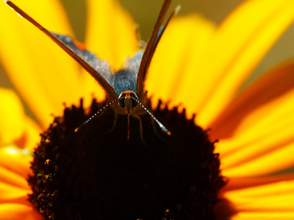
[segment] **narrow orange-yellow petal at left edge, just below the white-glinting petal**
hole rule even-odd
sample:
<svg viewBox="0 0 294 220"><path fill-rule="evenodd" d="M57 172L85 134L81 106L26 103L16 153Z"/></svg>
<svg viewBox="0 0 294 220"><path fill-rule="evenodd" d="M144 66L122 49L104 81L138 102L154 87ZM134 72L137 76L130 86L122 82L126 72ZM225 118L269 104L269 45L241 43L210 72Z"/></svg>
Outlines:
<svg viewBox="0 0 294 220"><path fill-rule="evenodd" d="M28 182L21 176L5 167L0 166L0 181L24 189L29 189Z"/></svg>

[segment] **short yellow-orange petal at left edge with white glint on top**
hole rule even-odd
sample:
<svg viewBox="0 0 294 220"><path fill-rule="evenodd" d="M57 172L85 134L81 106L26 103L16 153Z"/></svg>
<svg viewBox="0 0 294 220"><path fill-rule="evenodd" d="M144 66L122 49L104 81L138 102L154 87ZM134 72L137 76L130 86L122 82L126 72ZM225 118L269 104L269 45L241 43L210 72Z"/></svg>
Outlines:
<svg viewBox="0 0 294 220"><path fill-rule="evenodd" d="M32 175L29 168L33 157L26 149L20 149L15 146L0 148L0 166L12 170L17 174L27 178Z"/></svg>

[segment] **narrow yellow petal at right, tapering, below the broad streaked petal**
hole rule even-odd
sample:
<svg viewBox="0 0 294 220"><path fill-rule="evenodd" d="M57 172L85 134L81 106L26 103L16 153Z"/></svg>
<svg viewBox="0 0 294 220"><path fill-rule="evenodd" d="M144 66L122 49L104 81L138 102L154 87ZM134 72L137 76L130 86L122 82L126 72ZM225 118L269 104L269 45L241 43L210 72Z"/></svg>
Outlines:
<svg viewBox="0 0 294 220"><path fill-rule="evenodd" d="M231 159L231 158L230 158ZM294 165L294 142L265 153L246 163L224 168L223 175L229 177L250 177L266 175L285 170Z"/></svg>

